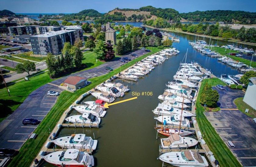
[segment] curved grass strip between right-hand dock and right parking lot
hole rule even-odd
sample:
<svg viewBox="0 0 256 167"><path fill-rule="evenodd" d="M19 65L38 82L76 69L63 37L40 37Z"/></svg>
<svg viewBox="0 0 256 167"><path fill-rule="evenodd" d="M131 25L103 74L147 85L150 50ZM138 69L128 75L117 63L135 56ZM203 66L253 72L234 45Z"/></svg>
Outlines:
<svg viewBox="0 0 256 167"><path fill-rule="evenodd" d="M196 101L196 114L197 114L197 123L199 125L200 131L204 132L204 140L207 143L209 149L213 152L215 159L219 161L220 166L230 166L230 167L238 167L241 166L236 157L232 154L226 144L223 142L219 134L212 127L211 123L208 121L206 116L204 115L204 107L200 104L199 98L203 91L205 83L211 83L212 86L217 84L224 85L224 83L218 78L204 79L200 91L198 93L197 101Z"/></svg>

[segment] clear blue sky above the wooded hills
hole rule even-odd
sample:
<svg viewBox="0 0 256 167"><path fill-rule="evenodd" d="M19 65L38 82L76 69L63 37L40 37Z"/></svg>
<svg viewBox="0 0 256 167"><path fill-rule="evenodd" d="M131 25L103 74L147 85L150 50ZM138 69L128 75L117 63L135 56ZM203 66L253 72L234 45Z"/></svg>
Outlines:
<svg viewBox="0 0 256 167"><path fill-rule="evenodd" d="M197 10L256 12L256 0L0 0L0 10L14 13L78 13L85 9L106 13L116 7L138 9L148 5L173 8L180 13Z"/></svg>

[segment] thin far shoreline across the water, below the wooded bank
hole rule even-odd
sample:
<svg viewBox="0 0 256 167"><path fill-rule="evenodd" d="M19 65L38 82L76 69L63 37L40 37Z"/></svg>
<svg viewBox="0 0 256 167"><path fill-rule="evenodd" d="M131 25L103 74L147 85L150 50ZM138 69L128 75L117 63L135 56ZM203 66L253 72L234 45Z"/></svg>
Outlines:
<svg viewBox="0 0 256 167"><path fill-rule="evenodd" d="M140 26L144 26L144 27L148 27L148 28L154 28L154 27L149 26L149 25L140 25ZM183 31L180 31L180 30L171 30L171 29L166 29L166 28L156 28L156 29L163 30L163 31L169 31L169 32L179 32L179 33L188 34L188 35L197 35L197 36L200 36L200 37L207 37L207 38L212 38L212 39L225 41L224 38L213 37L213 36L209 36L209 35L200 35L200 34L194 34L194 33L191 33L191 32L183 32ZM236 42L236 43L240 43L240 44L244 44L244 45L256 46L256 43L240 42L236 39L231 39L231 40L227 40L227 41L228 42Z"/></svg>

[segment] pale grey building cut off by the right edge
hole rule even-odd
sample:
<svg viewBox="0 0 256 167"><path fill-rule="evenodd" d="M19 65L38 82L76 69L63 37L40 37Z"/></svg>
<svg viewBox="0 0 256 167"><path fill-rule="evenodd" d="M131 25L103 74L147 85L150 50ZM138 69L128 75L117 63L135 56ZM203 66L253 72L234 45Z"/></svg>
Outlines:
<svg viewBox="0 0 256 167"><path fill-rule="evenodd" d="M249 79L249 84L244 95L244 102L256 109L256 77Z"/></svg>

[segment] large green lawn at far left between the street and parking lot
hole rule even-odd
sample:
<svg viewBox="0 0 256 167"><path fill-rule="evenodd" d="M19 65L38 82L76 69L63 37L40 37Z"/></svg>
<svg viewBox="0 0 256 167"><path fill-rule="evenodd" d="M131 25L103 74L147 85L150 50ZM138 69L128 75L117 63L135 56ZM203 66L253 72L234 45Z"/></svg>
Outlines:
<svg viewBox="0 0 256 167"><path fill-rule="evenodd" d="M26 82L20 81L8 86L11 95L10 97L8 96L4 85L1 85L0 106L4 113L2 113L0 116L0 122L2 122L9 114L14 112L31 92L52 81L52 79L50 79L46 73L31 77L29 80L30 81Z"/></svg>

